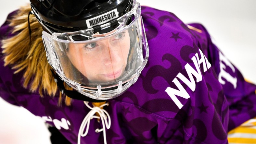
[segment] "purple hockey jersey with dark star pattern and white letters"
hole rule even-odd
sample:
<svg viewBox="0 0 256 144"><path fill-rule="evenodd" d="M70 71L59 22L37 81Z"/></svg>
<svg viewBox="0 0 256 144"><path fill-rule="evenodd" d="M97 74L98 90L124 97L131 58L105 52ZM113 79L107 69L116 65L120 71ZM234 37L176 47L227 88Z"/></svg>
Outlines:
<svg viewBox="0 0 256 144"><path fill-rule="evenodd" d="M200 24L184 24L173 13L142 6L149 59L137 82L105 106L111 118L108 143L228 143L227 132L256 116L256 86L244 80ZM1 39L11 36L6 22ZM2 50L1 50L2 51ZM22 106L77 143L83 101L57 106L58 97L22 88L22 73L0 61L0 96ZM92 106L91 102L89 105ZM104 143L102 122L90 121L81 143Z"/></svg>

